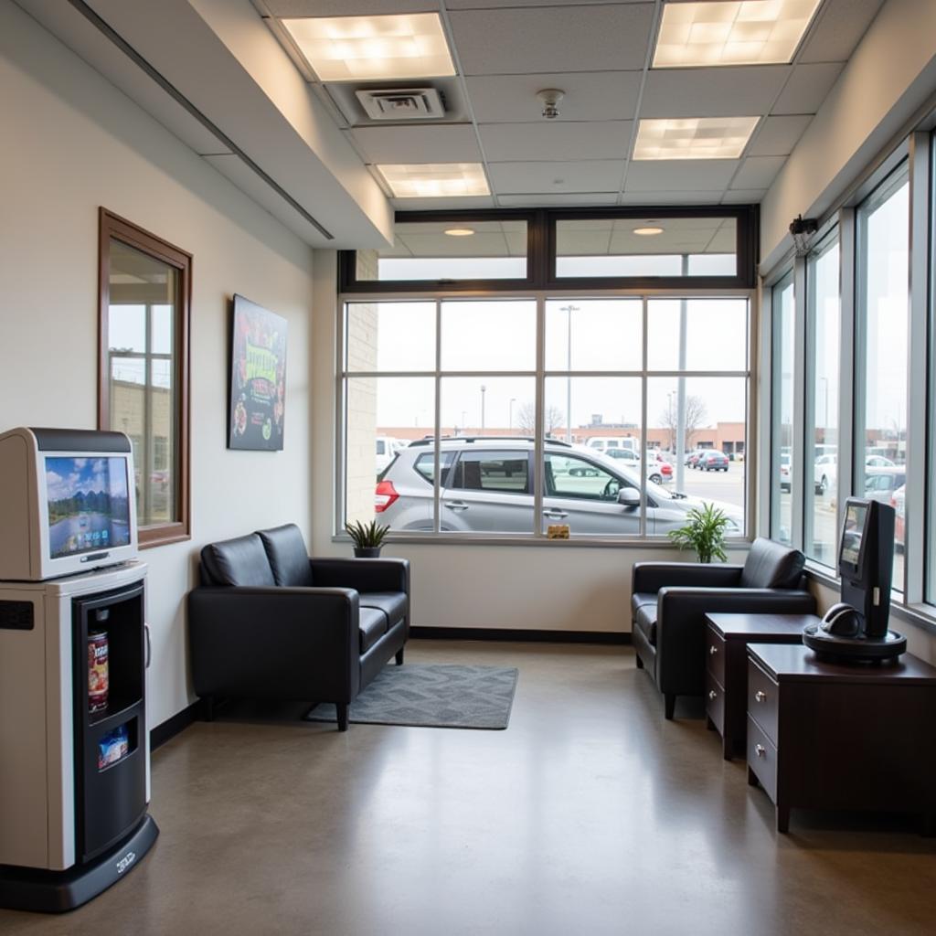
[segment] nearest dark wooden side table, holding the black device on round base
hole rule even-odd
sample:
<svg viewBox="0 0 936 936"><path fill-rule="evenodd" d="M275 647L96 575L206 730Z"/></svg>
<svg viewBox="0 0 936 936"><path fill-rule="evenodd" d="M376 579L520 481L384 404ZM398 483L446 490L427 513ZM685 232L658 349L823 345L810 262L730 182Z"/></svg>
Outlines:
<svg viewBox="0 0 936 936"><path fill-rule="evenodd" d="M793 807L914 812L936 834L936 668L825 663L803 646L748 647L748 782L786 832Z"/></svg>

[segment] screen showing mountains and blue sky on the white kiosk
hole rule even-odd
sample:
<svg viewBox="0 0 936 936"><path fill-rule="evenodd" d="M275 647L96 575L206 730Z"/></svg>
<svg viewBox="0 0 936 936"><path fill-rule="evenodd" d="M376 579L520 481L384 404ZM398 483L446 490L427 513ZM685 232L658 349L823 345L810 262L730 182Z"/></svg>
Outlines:
<svg viewBox="0 0 936 936"><path fill-rule="evenodd" d="M130 543L127 459L46 458L49 558Z"/></svg>

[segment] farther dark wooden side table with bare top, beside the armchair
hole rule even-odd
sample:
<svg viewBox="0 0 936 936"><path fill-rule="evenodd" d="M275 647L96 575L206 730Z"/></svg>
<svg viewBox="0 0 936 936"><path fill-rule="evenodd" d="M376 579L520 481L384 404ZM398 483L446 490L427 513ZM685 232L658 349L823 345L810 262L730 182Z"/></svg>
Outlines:
<svg viewBox="0 0 936 936"><path fill-rule="evenodd" d="M744 753L749 643L801 644L812 614L707 614L706 715L722 736L725 760Z"/></svg>

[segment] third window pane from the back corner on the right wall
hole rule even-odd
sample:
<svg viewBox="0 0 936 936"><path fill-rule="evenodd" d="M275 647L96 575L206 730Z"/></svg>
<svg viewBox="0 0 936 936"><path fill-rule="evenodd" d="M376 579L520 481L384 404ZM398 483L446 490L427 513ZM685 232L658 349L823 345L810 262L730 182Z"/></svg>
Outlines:
<svg viewBox="0 0 936 936"><path fill-rule="evenodd" d="M855 490L885 504L881 475L894 480L907 461L907 365L910 321L910 186L905 168L858 210L858 367ZM896 531L894 586L903 588L902 527Z"/></svg>

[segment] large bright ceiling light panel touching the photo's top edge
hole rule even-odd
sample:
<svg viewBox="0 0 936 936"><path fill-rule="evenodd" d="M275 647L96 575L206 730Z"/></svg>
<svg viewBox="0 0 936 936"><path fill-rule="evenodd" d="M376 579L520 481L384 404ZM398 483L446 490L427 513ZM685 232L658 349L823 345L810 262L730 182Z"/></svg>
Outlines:
<svg viewBox="0 0 936 936"><path fill-rule="evenodd" d="M792 62L822 0L667 3L654 68Z"/></svg>

